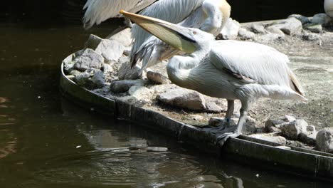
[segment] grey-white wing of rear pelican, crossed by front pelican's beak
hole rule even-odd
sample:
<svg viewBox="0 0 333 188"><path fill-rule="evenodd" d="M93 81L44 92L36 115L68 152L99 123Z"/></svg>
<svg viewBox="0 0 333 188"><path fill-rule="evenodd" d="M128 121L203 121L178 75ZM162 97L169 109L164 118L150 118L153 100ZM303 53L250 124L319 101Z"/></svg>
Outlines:
<svg viewBox="0 0 333 188"><path fill-rule="evenodd" d="M192 11L198 9L203 4L203 1L205 0L159 0L151 6L148 6L140 14L171 23L179 23L186 19ZM154 38L154 36L137 25L132 27L132 37L135 38L135 41L133 43L131 57L135 56L135 53L142 47L144 41L147 41L149 37ZM152 40L153 39L150 39L150 41ZM131 61L132 64L136 63L133 58Z"/></svg>

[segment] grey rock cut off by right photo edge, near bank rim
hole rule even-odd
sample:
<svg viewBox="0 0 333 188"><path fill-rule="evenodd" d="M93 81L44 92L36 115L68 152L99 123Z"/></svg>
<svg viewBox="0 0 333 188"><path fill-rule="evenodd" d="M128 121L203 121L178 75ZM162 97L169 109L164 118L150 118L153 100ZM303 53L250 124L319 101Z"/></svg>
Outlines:
<svg viewBox="0 0 333 188"><path fill-rule="evenodd" d="M333 153L333 128L320 130L316 142L319 151Z"/></svg>

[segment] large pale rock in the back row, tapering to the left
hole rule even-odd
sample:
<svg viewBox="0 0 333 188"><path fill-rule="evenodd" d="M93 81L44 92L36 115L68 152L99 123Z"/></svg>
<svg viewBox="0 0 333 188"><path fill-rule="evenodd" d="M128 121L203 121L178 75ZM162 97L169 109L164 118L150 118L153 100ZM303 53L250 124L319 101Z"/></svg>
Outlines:
<svg viewBox="0 0 333 188"><path fill-rule="evenodd" d="M286 19L274 26L280 28L280 30L287 35L299 34L302 31L302 22L295 18Z"/></svg>

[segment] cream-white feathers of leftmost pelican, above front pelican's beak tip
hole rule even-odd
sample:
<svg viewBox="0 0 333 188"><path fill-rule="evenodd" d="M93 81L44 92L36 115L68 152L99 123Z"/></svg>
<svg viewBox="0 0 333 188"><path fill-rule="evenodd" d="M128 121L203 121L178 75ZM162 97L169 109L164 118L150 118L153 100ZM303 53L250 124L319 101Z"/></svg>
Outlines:
<svg viewBox="0 0 333 188"><path fill-rule="evenodd" d="M137 12L146 8L157 0L88 0L83 23L85 28L100 24L110 18L120 17L119 11Z"/></svg>

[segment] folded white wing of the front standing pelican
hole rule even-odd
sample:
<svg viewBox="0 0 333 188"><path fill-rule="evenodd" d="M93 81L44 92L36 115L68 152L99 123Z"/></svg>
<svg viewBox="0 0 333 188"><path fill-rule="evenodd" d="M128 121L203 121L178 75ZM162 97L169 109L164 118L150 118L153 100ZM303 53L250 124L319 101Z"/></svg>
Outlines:
<svg viewBox="0 0 333 188"><path fill-rule="evenodd" d="M211 63L219 70L247 83L293 88L290 85L293 74L287 67L289 59L285 54L259 43L216 41L215 44L209 55Z"/></svg>

